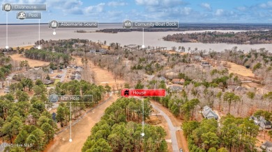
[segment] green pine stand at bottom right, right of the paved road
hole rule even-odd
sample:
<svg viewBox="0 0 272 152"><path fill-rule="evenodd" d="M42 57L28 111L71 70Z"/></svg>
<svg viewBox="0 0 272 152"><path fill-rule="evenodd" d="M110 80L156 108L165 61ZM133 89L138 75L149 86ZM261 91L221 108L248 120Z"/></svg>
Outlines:
<svg viewBox="0 0 272 152"><path fill-rule="evenodd" d="M183 123L190 151L256 151L259 126L252 120L227 115L220 124L219 127L216 119Z"/></svg>

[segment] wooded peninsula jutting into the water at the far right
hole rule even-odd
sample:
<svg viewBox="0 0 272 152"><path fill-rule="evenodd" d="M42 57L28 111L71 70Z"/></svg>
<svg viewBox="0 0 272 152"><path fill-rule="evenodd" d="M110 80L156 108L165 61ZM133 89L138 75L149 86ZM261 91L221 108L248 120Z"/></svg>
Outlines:
<svg viewBox="0 0 272 152"><path fill-rule="evenodd" d="M272 31L245 32L202 32L176 33L167 35L163 40L174 42L203 42L203 43L231 43L231 44L271 44Z"/></svg>

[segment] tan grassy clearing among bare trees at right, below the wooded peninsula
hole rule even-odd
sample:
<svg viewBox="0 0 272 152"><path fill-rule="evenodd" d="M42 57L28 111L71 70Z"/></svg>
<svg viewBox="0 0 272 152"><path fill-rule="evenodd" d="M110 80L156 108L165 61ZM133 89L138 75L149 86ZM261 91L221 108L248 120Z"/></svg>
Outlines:
<svg viewBox="0 0 272 152"><path fill-rule="evenodd" d="M242 65L237 65L233 62L227 62L227 65L229 65L229 73L239 74L241 76L252 76L255 77L255 74L253 74L251 69L247 69L246 67Z"/></svg>

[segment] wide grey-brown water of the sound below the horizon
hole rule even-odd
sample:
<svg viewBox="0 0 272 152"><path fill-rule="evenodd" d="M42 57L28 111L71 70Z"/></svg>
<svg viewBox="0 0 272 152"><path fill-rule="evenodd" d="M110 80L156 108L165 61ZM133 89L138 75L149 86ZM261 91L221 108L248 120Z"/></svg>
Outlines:
<svg viewBox="0 0 272 152"><path fill-rule="evenodd" d="M4 26L3 26L4 27ZM3 28L0 26L0 31ZM33 35L33 31L36 31L36 29L29 29L27 26L22 26L22 28L19 28L17 26L10 26L10 32L9 33L9 43L8 46L10 47L27 47L33 42L36 42L38 37L38 26L33 27L37 28L37 33ZM136 44L136 45L142 45L142 32L119 32L119 33L101 33L101 32L91 32L91 33L75 33L75 29L59 29L56 31L56 35L52 34L52 29L47 28L45 26L41 26L41 33L40 33L40 39L42 40L66 40L66 39L86 39L90 40L92 42L98 42L98 41L106 41L107 44L114 42L119 43L121 46L129 45L129 44ZM17 35L15 31L23 31L22 34ZM211 30L210 30L211 31ZM194 33L196 31L188 31L187 33ZM202 32L202 31L197 31ZM229 31L225 31L229 32ZM238 31L237 31L238 32ZM5 30L0 33L5 35ZM186 43L180 43L180 42L172 42L172 41L165 41L161 40L166 35L173 35L177 32L146 32L144 33L144 44L146 46L157 46L157 47L167 47L167 49L171 49L172 47L185 47L186 50L190 47L191 49L197 48L198 50L212 50L212 51L224 51L225 49L232 49L233 47L237 47L237 50L241 51L250 51L250 49L260 49L260 48L266 48L270 52L272 52L272 45L271 44L226 44L226 43L201 43L201 42L186 42ZM184 32L179 32L184 33ZM37 36L37 37L36 37ZM118 37L118 38L116 38ZM132 39L131 37L135 37ZM6 47L6 38L2 37L0 38L0 48Z"/></svg>

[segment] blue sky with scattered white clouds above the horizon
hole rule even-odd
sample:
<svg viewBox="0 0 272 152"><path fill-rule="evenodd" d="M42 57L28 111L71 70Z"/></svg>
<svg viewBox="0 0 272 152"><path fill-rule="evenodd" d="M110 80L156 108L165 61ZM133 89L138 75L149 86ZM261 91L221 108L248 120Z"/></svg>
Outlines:
<svg viewBox="0 0 272 152"><path fill-rule="evenodd" d="M264 0L3 0L2 3L47 3L40 22L59 21L179 21L180 23L272 23L272 1ZM16 19L9 23L36 22ZM0 10L0 23L6 12Z"/></svg>

